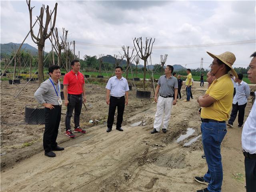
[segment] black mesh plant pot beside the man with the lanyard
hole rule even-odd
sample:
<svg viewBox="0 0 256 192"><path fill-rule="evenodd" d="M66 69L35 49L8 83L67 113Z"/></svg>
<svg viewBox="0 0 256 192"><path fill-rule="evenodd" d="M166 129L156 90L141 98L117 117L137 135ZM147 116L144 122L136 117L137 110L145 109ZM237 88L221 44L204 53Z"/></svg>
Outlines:
<svg viewBox="0 0 256 192"><path fill-rule="evenodd" d="M26 105L25 122L32 125L44 124L44 107L35 104Z"/></svg>

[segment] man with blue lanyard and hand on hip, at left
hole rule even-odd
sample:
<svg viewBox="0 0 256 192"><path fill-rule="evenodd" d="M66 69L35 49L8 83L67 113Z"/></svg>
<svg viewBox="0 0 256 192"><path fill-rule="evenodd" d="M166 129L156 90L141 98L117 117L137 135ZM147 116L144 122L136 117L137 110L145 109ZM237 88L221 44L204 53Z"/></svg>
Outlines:
<svg viewBox="0 0 256 192"><path fill-rule="evenodd" d="M45 129L44 129L44 155L55 157L53 151L62 151L63 147L57 145L56 139L61 118L62 100L60 98L60 66L49 67L50 78L41 83L34 96L39 104L45 107Z"/></svg>

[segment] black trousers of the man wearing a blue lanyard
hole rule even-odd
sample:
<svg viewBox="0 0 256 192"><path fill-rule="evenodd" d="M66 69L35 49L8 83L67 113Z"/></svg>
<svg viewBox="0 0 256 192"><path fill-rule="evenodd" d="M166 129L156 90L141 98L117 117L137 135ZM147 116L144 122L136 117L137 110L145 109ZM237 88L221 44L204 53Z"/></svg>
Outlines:
<svg viewBox="0 0 256 192"><path fill-rule="evenodd" d="M52 148L57 146L57 136L58 129L60 125L61 118L61 106L54 105L54 109L45 108L45 128L44 128L44 138L43 145L44 151L50 152Z"/></svg>

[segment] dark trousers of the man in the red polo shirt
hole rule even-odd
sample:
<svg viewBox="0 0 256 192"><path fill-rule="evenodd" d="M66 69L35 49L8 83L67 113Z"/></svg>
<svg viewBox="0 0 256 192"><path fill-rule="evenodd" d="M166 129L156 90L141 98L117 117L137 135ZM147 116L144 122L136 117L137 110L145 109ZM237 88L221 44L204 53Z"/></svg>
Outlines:
<svg viewBox="0 0 256 192"><path fill-rule="evenodd" d="M81 109L83 105L83 96L82 94L80 95L68 94L68 102L69 103L67 106L66 120L65 120L66 130L71 129L70 120L71 120L74 109L75 109L75 114L74 114L75 128L80 126L80 114L81 114Z"/></svg>

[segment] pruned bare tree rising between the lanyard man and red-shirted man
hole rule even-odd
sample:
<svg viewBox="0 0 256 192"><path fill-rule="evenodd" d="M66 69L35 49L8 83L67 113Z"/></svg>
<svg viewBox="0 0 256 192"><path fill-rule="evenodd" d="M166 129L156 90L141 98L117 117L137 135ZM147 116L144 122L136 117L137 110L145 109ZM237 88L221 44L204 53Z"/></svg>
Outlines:
<svg viewBox="0 0 256 192"><path fill-rule="evenodd" d="M61 50L63 50L66 47L66 41L67 41L67 36L68 36L68 31L65 30L65 28L62 28L62 36L58 36L58 28L54 29L54 41L55 41L55 46L58 49L58 55L61 56ZM61 64L61 58L58 57L58 66Z"/></svg>

